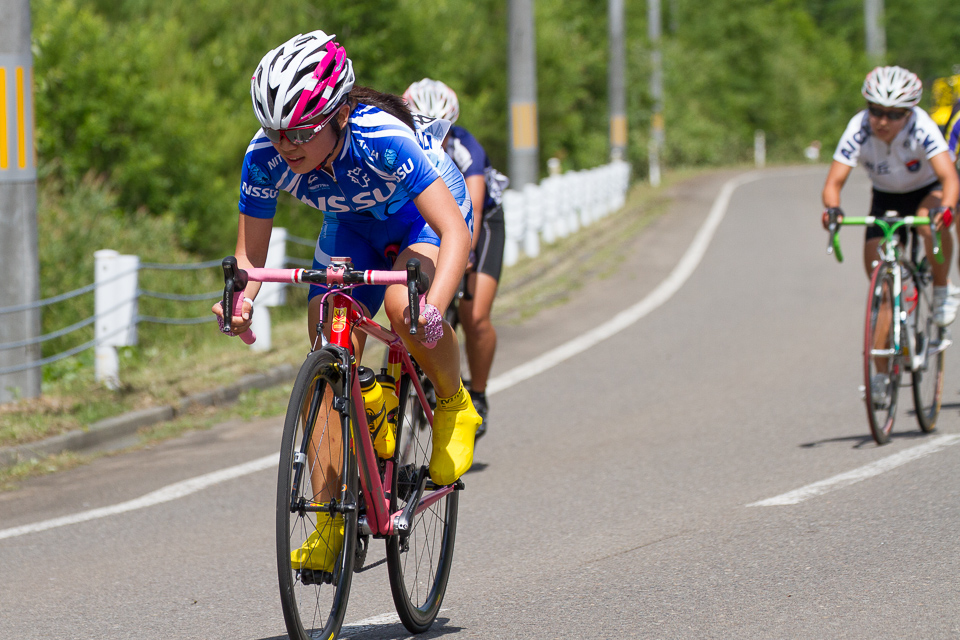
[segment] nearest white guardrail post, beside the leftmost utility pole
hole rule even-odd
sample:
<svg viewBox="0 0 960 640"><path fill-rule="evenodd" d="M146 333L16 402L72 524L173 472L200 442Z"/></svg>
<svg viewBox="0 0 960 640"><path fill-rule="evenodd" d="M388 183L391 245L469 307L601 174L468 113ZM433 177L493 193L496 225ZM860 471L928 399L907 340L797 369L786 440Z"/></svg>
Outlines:
<svg viewBox="0 0 960 640"><path fill-rule="evenodd" d="M123 256L112 249L93 254L94 336L97 340L94 377L108 389L120 388L117 347L137 344L138 256Z"/></svg>

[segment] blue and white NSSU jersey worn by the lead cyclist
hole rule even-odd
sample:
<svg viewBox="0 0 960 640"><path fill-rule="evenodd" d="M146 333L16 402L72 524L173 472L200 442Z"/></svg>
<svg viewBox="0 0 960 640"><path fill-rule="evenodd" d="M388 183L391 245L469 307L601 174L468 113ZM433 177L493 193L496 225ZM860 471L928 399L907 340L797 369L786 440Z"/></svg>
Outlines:
<svg viewBox="0 0 960 640"><path fill-rule="evenodd" d="M294 173L261 129L243 159L240 212L272 218L283 190L326 216L355 213L385 220L442 178L472 227L463 177L441 146L447 127L446 120L420 118L414 132L385 111L358 105L344 128L332 176L320 168Z"/></svg>

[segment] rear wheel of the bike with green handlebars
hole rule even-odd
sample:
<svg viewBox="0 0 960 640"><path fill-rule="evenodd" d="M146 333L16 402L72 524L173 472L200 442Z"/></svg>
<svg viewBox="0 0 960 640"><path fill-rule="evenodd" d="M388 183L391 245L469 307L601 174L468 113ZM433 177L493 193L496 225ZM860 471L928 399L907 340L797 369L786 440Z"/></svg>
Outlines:
<svg viewBox="0 0 960 640"><path fill-rule="evenodd" d="M929 433L937 428L937 418L940 417L946 331L934 322L929 273L919 273L912 282L916 291L916 307L912 315L916 337L910 351L913 406L920 429Z"/></svg>

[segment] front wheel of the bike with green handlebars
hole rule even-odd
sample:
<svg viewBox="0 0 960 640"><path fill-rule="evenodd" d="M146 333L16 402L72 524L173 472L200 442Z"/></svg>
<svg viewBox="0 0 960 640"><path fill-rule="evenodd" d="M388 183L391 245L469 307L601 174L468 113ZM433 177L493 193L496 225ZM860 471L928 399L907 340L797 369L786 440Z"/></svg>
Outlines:
<svg viewBox="0 0 960 640"><path fill-rule="evenodd" d="M877 444L890 440L902 375L900 355L893 349L893 291L893 274L878 264L870 277L863 344L864 400Z"/></svg>

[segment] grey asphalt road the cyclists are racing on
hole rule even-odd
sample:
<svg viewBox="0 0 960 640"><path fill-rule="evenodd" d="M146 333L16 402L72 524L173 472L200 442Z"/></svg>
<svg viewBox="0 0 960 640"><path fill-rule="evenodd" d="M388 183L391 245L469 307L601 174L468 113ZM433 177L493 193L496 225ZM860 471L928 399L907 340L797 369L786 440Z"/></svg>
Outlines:
<svg viewBox="0 0 960 640"><path fill-rule="evenodd" d="M501 388L422 637L960 637L960 358L947 352L937 432L919 432L906 390L892 442L874 445L858 391L863 232L844 230L846 263L825 255L824 167L752 176L662 304L503 382L662 292L737 175L675 189L618 273L501 328ZM844 195L866 210L861 172ZM0 638L286 638L275 466L11 534L262 460L279 436L279 420L223 424L0 494ZM385 567L358 574L343 636L408 637L392 612Z"/></svg>

